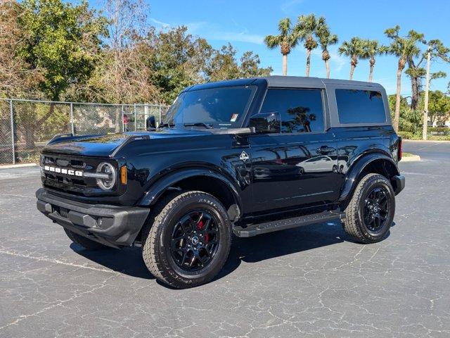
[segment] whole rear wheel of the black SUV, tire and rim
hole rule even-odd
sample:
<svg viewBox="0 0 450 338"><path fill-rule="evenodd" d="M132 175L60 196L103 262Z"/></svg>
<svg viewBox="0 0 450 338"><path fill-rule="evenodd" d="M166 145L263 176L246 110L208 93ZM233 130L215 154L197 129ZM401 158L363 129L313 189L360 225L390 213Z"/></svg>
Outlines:
<svg viewBox="0 0 450 338"><path fill-rule="evenodd" d="M390 230L394 213L395 197L389 180L371 173L364 176L354 190L342 225L356 242L380 242Z"/></svg>

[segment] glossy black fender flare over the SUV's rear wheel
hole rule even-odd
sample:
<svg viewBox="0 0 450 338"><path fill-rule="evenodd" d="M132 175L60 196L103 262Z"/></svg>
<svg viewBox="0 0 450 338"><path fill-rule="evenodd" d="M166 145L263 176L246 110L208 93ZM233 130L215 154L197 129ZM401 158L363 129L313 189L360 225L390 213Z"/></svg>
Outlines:
<svg viewBox="0 0 450 338"><path fill-rule="evenodd" d="M371 153L361 156L358 160L356 160L347 171L347 175L345 177L344 187L341 189L339 201L345 201L349 196L352 195L353 190L356 188L356 184L359 175L364 171L367 165L370 165L374 161L387 161L390 163L391 168L394 168L392 175L388 178L392 178L392 176L400 175L399 168L397 163L390 157L382 153Z"/></svg>

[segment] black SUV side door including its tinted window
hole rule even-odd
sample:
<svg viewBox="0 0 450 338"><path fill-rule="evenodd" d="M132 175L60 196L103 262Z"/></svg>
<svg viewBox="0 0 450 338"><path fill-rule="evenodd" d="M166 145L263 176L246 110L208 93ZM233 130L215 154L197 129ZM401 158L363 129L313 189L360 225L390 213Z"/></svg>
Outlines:
<svg viewBox="0 0 450 338"><path fill-rule="evenodd" d="M321 89L269 89L268 111L281 115L281 132L249 137L255 211L337 200L338 156Z"/></svg>

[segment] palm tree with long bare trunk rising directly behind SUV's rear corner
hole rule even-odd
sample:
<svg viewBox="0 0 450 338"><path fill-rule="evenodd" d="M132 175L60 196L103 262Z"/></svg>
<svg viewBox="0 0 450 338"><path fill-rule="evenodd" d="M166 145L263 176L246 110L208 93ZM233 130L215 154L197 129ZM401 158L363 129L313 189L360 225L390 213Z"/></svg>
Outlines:
<svg viewBox="0 0 450 338"><path fill-rule="evenodd" d="M410 30L406 37L399 36L400 26L397 25L393 28L385 30L385 35L392 39L388 52L399 58L399 65L397 68L397 96L395 97L395 113L394 113L394 130L399 130L400 120L400 100L401 100L401 73L403 72L406 61L409 58L418 56L420 49L417 43L426 43L423 39L423 34Z"/></svg>

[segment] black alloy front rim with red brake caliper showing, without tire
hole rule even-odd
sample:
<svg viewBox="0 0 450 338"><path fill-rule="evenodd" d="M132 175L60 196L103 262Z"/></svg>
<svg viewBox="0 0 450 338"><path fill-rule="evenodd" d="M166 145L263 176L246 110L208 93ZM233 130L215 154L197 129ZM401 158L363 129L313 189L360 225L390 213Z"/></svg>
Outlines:
<svg viewBox="0 0 450 338"><path fill-rule="evenodd" d="M170 251L174 262L189 272L205 268L217 252L219 235L217 221L208 211L186 213L172 232Z"/></svg>

